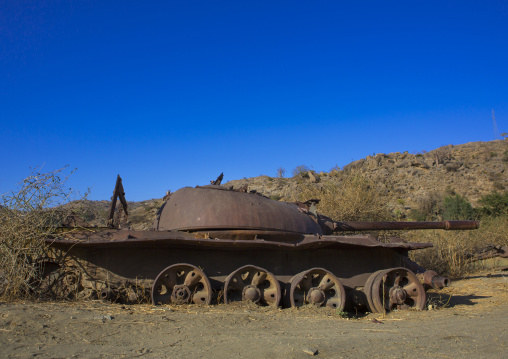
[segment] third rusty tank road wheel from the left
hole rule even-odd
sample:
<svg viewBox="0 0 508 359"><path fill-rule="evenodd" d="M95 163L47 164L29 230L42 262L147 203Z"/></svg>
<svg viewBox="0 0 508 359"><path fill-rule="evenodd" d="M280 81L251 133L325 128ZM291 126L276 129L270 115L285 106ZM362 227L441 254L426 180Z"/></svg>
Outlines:
<svg viewBox="0 0 508 359"><path fill-rule="evenodd" d="M346 304L344 287L337 277L323 268L312 268L294 276L289 298L292 307L312 304L342 311Z"/></svg>

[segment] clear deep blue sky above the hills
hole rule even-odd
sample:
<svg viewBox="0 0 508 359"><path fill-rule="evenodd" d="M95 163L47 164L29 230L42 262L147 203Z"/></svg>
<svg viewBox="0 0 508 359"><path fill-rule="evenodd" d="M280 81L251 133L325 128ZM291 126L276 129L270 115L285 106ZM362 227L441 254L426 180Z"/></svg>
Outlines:
<svg viewBox="0 0 508 359"><path fill-rule="evenodd" d="M507 1L0 2L0 193L128 200L508 132Z"/></svg>

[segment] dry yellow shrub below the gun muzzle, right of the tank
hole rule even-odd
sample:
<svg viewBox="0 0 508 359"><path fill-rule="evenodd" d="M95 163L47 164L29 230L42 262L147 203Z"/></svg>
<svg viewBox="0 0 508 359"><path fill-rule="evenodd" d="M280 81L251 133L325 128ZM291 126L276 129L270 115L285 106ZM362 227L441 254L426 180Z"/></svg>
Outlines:
<svg viewBox="0 0 508 359"><path fill-rule="evenodd" d="M480 229L472 231L409 231L405 239L432 243L434 247L413 251L411 258L427 269L460 277L478 269L471 256L490 244L508 245L508 215L484 217Z"/></svg>

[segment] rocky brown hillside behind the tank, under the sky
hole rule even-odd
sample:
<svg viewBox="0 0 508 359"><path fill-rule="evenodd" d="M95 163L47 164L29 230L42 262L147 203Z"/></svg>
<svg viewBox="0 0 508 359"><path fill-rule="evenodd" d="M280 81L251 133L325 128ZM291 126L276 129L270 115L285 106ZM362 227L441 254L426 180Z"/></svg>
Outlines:
<svg viewBox="0 0 508 359"><path fill-rule="evenodd" d="M333 163L333 159L330 160ZM403 213L417 208L434 195L457 193L473 205L494 190L508 190L508 140L472 142L448 145L422 153L378 153L354 161L342 169L328 173L313 171L290 178L259 176L229 181L225 186L240 188L247 185L267 197L294 199L302 181L320 187L338 185L340 172L359 173L376 185L386 197L388 206ZM128 194L127 194L128 197ZM147 229L151 226L162 199L129 202L131 227ZM109 202L89 202L88 219L97 225L105 224Z"/></svg>

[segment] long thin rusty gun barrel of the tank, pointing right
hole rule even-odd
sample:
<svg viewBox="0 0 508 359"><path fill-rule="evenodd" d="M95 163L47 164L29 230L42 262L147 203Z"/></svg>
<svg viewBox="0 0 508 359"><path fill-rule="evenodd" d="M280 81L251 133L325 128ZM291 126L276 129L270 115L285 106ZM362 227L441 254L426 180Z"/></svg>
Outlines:
<svg viewBox="0 0 508 359"><path fill-rule="evenodd" d="M478 229L478 221L441 221L441 222L334 222L334 232L372 231L372 230L409 230L409 229Z"/></svg>

